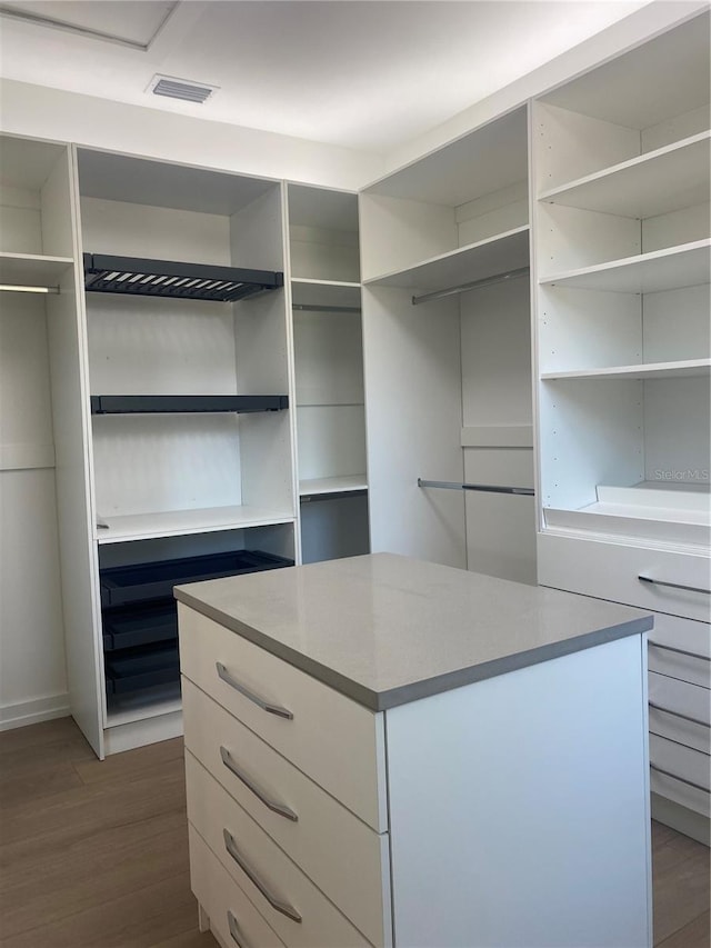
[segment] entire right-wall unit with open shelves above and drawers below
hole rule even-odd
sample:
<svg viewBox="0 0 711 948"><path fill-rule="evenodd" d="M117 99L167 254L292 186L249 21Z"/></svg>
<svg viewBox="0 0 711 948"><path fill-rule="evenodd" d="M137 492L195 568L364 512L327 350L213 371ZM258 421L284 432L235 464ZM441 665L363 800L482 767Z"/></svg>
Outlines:
<svg viewBox="0 0 711 948"><path fill-rule="evenodd" d="M678 689L650 709L652 811L707 841L708 37L707 11L532 113L539 580L655 611L652 678Z"/></svg>

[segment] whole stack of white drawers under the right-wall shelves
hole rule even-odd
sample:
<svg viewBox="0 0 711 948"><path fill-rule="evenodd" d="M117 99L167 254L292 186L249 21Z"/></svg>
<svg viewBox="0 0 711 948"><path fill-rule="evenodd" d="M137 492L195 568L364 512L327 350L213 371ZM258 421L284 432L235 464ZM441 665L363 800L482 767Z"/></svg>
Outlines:
<svg viewBox="0 0 711 948"><path fill-rule="evenodd" d="M711 626L704 556L541 535L540 581L654 612L649 633L652 815L709 844Z"/></svg>

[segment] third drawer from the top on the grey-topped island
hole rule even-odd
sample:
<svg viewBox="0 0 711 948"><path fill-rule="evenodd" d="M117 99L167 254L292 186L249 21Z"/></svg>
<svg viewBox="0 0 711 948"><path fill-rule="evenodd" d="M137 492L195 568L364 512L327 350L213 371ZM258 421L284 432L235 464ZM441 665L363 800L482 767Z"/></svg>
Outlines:
<svg viewBox="0 0 711 948"><path fill-rule="evenodd" d="M190 751L186 784L188 819L289 948L367 948L363 935Z"/></svg>

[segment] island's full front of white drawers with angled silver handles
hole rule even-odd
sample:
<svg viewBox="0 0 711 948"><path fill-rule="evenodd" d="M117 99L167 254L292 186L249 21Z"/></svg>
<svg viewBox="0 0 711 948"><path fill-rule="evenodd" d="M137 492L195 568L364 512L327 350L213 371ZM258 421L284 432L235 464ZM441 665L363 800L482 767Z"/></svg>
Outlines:
<svg viewBox="0 0 711 948"><path fill-rule="evenodd" d="M383 716L179 606L191 878L226 945L392 945Z"/></svg>

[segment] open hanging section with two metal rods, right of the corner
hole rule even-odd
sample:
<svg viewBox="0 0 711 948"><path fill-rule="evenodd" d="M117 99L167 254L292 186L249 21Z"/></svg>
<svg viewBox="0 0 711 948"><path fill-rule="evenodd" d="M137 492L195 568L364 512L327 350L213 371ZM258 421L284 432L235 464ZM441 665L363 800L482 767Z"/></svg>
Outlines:
<svg viewBox="0 0 711 948"><path fill-rule="evenodd" d="M373 551L534 582L531 497L418 487L533 487L527 142L521 108L374 182L361 238Z"/></svg>

